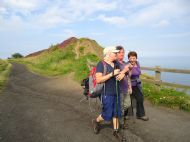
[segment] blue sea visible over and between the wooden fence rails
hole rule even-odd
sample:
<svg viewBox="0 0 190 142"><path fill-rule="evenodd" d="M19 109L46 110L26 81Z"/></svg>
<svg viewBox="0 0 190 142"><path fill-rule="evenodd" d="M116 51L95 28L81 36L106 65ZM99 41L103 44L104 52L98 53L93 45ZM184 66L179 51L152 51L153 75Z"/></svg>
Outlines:
<svg viewBox="0 0 190 142"><path fill-rule="evenodd" d="M155 67L160 66L161 68L173 68L173 69L187 69L190 70L190 56L187 57L139 57L138 61L141 66L144 67ZM154 71L142 71L154 76ZM164 82L177 83L190 86L190 74L181 73L161 73L161 80ZM183 89L178 89L183 90ZM186 93L190 95L190 90L186 90Z"/></svg>

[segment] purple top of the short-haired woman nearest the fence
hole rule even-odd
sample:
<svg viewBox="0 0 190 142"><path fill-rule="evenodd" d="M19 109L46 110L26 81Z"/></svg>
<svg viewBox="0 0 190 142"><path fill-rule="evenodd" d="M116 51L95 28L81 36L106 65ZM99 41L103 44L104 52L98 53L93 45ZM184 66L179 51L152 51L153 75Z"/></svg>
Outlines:
<svg viewBox="0 0 190 142"><path fill-rule="evenodd" d="M132 68L132 74L131 74L131 85L132 86L137 86L137 80L136 79L139 79L140 74L141 74L141 69L140 69L139 65Z"/></svg>

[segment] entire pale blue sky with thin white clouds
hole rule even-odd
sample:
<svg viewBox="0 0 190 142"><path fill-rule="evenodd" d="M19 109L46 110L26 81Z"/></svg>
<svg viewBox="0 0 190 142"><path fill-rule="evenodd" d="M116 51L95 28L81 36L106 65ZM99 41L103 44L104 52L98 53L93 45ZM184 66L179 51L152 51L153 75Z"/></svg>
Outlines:
<svg viewBox="0 0 190 142"><path fill-rule="evenodd" d="M0 0L0 58L69 37L142 57L190 56L190 0Z"/></svg>

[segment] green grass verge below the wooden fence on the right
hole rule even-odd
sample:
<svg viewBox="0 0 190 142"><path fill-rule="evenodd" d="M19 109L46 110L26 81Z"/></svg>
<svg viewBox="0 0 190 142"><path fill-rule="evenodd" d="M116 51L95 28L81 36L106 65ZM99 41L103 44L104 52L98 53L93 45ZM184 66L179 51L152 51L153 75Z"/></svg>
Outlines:
<svg viewBox="0 0 190 142"><path fill-rule="evenodd" d="M172 88L143 83L143 94L155 105L190 111L190 96Z"/></svg>

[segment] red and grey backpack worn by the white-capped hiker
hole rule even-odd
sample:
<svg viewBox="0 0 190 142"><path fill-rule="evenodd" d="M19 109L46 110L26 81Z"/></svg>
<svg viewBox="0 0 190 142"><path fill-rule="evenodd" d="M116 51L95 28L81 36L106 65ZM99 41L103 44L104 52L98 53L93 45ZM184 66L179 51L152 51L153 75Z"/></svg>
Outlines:
<svg viewBox="0 0 190 142"><path fill-rule="evenodd" d="M106 74L107 68L106 63L101 61L104 67L103 75ZM83 79L82 86L84 86L84 95L89 96L91 98L100 97L102 94L103 89L105 88L105 83L97 83L96 82L96 66L92 67L90 70L90 74L87 78Z"/></svg>

